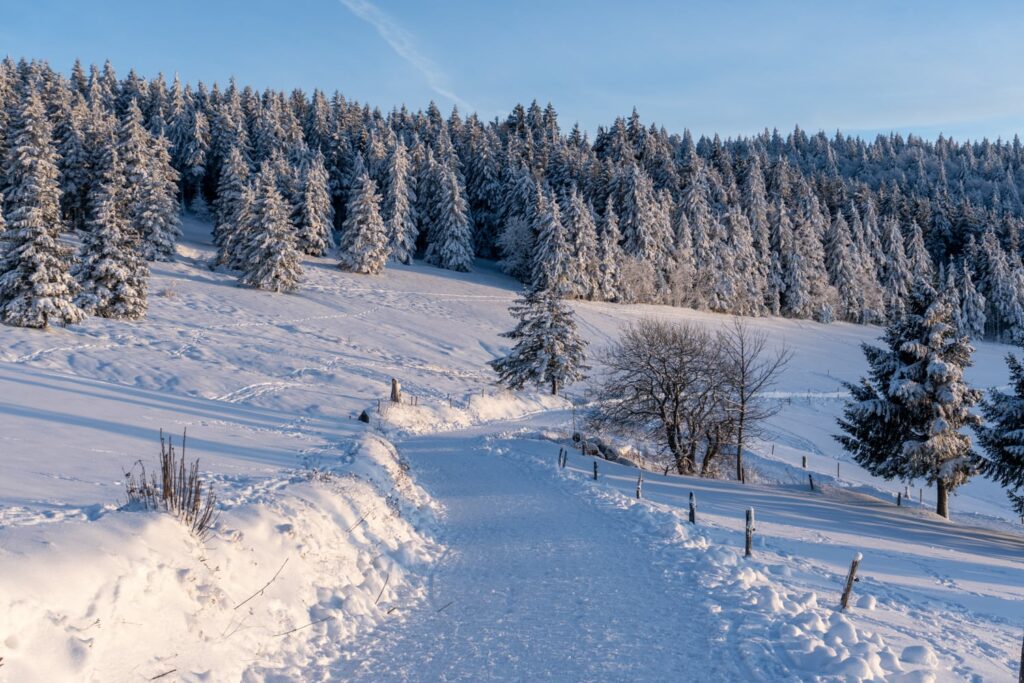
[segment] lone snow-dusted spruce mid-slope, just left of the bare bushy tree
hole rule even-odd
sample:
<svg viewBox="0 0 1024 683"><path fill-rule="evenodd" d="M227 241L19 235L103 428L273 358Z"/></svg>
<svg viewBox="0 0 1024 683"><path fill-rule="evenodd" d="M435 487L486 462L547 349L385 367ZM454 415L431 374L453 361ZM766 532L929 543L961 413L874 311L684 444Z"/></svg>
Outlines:
<svg viewBox="0 0 1024 683"><path fill-rule="evenodd" d="M551 290L528 290L509 307L518 323L503 337L515 344L490 361L498 382L510 389L527 384L551 388L552 395L583 379L587 342L577 331L572 309Z"/></svg>

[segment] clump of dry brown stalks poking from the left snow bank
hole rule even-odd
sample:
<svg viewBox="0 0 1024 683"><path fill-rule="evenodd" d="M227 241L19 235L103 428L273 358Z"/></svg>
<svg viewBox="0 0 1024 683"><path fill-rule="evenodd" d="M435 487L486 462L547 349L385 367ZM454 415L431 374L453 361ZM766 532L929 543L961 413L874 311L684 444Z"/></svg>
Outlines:
<svg viewBox="0 0 1024 683"><path fill-rule="evenodd" d="M139 460L125 472L125 495L128 505L146 510L163 510L177 517L188 530L206 539L216 521L217 496L213 484L199 477L199 459L191 463L185 458L186 433L181 434L181 455L174 449L170 436L160 430L160 478L146 476L145 465Z"/></svg>

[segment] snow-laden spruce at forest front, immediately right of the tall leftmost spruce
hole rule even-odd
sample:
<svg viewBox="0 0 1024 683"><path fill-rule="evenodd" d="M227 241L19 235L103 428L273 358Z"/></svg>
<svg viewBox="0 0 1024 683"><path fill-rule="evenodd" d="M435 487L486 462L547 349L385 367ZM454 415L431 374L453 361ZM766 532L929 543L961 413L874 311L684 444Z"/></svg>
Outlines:
<svg viewBox="0 0 1024 683"><path fill-rule="evenodd" d="M90 315L138 319L147 308L150 268L125 215L124 170L116 148L109 148L96 170L99 178L89 191L87 232L75 270L82 286L77 303Z"/></svg>

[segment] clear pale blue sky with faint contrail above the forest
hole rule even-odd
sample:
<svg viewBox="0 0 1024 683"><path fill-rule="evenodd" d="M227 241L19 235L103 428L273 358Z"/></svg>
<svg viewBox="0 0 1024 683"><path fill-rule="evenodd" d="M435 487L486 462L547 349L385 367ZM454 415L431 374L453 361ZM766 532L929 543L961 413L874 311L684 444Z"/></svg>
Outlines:
<svg viewBox="0 0 1024 683"><path fill-rule="evenodd" d="M62 71L109 57L385 111L536 98L591 131L634 105L696 134L1024 130L1020 0L0 0L0 53Z"/></svg>

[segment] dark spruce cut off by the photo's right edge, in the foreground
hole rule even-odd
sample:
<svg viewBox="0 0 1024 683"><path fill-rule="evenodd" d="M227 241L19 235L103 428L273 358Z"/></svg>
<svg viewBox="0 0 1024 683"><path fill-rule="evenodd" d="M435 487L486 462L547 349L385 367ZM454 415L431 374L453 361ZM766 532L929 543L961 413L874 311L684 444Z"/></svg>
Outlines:
<svg viewBox="0 0 1024 683"><path fill-rule="evenodd" d="M979 470L1007 488L1017 514L1024 516L1024 366L1007 355L1013 393L992 389L981 402L985 422L975 427L984 454Z"/></svg>

